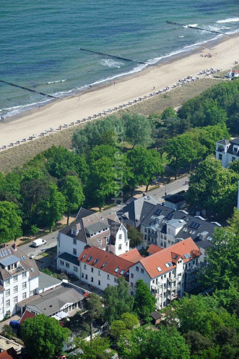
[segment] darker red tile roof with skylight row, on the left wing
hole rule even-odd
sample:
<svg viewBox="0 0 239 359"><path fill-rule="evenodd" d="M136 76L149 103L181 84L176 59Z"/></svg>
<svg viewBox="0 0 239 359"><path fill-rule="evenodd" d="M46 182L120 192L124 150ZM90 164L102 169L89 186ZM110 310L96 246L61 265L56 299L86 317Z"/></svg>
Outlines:
<svg viewBox="0 0 239 359"><path fill-rule="evenodd" d="M84 254L86 254L85 258L83 258ZM89 261L88 258L90 256L92 259ZM98 261L97 263L94 263L96 259L98 259ZM124 258L120 258L113 253L103 251L100 248L89 247L88 245L81 252L78 261L87 263L92 267L100 269L109 274L113 274L115 277L121 277L121 275L124 275L129 271L129 267L133 264L133 262L127 261ZM103 266L104 263L106 263L105 266ZM119 270L115 272L117 267ZM122 270L124 270L124 272L120 274Z"/></svg>

